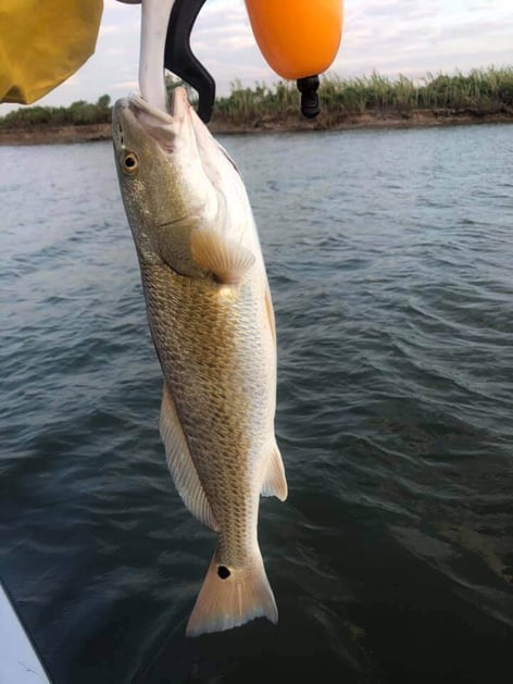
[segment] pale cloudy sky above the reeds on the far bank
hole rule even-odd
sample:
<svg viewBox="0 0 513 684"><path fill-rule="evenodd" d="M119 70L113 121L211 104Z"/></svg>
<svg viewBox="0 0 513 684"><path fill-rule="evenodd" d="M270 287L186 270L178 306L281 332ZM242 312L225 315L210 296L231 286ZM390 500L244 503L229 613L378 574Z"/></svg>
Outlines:
<svg viewBox="0 0 513 684"><path fill-rule="evenodd" d="M37 104L96 102L104 94L114 101L137 91L139 32L140 5L104 0L95 54ZM258 49L243 0L207 0L191 45L218 95L228 95L236 79L245 86L279 80ZM329 73L417 78L489 65L513 65L513 0L346 0ZM0 115L12 109L17 105L0 104Z"/></svg>

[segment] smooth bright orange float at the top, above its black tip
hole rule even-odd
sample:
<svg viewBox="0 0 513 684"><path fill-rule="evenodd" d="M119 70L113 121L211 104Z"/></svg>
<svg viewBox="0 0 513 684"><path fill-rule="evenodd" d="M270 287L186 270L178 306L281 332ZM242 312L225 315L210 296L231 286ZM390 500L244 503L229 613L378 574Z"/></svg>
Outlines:
<svg viewBox="0 0 513 684"><path fill-rule="evenodd" d="M342 0L246 0L259 48L283 78L326 71L342 36Z"/></svg>

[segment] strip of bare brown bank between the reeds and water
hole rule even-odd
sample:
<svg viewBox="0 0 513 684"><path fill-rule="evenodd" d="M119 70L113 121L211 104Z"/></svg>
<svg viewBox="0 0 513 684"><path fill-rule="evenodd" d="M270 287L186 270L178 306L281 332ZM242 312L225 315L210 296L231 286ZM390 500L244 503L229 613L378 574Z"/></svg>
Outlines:
<svg viewBox="0 0 513 684"><path fill-rule="evenodd" d="M480 112L478 110L414 110L411 112L367 111L363 114L333 115L321 113L308 121L299 115L285 119L262 117L252 123L232 124L214 120L209 128L214 135L258 133L300 133L316 130L355 130L362 128L417 128L470 124L513 123L513 111ZM68 145L111 139L111 124L83 126L38 126L0 128L0 146Z"/></svg>

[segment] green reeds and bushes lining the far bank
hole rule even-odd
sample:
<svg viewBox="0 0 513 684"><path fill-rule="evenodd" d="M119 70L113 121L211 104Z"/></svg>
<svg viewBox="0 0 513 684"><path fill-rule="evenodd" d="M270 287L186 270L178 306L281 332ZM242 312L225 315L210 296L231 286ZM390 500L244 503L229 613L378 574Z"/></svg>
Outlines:
<svg viewBox="0 0 513 684"><path fill-rule="evenodd" d="M171 90L179 82L170 78L167 85ZM348 115L385 113L408 117L416 110L513 115L513 67L474 70L466 75L428 74L416 82L405 76L389 78L376 72L362 78L325 76L320 96L322 122L328 126ZM245 88L240 82L235 82L228 97L217 98L214 120L218 124L251 125L253 122L297 119L298 102L299 94L293 83L256 84L253 88ZM33 125L101 124L108 123L110 117L110 97L103 95L96 104L78 101L67 108L18 109L0 119L0 130Z"/></svg>

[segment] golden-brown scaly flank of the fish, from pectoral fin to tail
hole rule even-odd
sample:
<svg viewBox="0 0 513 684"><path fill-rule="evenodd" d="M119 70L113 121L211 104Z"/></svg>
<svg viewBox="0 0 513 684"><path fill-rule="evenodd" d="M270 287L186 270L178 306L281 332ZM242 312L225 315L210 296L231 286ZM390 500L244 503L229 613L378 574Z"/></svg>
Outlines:
<svg viewBox="0 0 513 684"><path fill-rule="evenodd" d="M220 562L245 567L260 495L250 482L261 467L261 435L268 427L262 396L272 382L272 373L262 373L255 297L248 286L226 297L208 281L165 266L149 271L143 279L150 328L201 484L223 530ZM254 380L248 383L248 376Z"/></svg>

